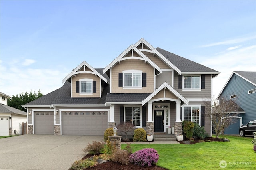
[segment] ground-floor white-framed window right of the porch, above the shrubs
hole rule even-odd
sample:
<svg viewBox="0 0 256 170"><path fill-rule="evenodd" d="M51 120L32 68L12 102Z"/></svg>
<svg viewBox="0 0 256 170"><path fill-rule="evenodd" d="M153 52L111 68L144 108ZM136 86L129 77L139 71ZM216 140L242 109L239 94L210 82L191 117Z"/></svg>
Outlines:
<svg viewBox="0 0 256 170"><path fill-rule="evenodd" d="M199 106L184 106L184 121L191 121L199 124Z"/></svg>

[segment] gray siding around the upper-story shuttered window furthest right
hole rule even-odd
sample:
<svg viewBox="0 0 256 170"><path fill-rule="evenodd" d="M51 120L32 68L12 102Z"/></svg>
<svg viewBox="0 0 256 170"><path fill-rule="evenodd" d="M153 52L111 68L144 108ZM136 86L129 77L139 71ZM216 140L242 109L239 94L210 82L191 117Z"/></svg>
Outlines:
<svg viewBox="0 0 256 170"><path fill-rule="evenodd" d="M178 74L174 73L174 89L186 98L211 98L212 94L212 79L211 75L205 75L205 89L201 91L182 91L178 88Z"/></svg>

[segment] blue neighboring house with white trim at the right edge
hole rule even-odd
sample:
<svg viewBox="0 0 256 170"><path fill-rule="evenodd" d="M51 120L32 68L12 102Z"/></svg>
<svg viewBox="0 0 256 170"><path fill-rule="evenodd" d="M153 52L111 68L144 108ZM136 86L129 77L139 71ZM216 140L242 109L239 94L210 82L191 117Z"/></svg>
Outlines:
<svg viewBox="0 0 256 170"><path fill-rule="evenodd" d="M233 71L218 99L232 99L237 97L236 103L240 106L240 113L236 123L224 129L224 134L239 134L239 127L249 121L256 120L256 72Z"/></svg>

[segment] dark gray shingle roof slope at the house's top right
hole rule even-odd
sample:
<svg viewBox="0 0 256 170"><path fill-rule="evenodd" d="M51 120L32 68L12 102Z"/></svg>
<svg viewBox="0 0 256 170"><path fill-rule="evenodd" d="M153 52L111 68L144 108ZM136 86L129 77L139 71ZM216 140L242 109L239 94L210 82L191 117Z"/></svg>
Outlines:
<svg viewBox="0 0 256 170"><path fill-rule="evenodd" d="M161 48L156 48L166 59L173 63L182 72L218 72L214 69L191 61L189 59L180 57L174 53L170 53Z"/></svg>

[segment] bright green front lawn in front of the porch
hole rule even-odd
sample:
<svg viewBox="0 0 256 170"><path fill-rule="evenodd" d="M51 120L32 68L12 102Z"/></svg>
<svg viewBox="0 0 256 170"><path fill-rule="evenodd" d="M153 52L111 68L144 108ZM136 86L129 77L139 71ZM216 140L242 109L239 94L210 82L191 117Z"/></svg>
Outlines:
<svg viewBox="0 0 256 170"><path fill-rule="evenodd" d="M154 148L159 154L158 166L166 169L256 169L256 152L251 143L253 138L220 136L230 142L204 142L186 144L131 144L133 152L143 148ZM122 144L124 148L126 144ZM220 161L226 168L220 168Z"/></svg>

